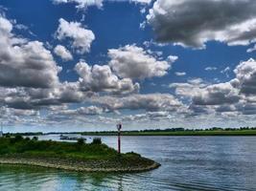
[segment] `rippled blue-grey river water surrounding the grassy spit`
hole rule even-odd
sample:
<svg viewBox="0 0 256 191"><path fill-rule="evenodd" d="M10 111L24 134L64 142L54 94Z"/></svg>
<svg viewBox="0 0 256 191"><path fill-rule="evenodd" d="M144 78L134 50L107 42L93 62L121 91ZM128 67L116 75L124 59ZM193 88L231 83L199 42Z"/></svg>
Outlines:
<svg viewBox="0 0 256 191"><path fill-rule="evenodd" d="M103 141L116 146L115 137ZM84 174L1 165L0 190L256 190L256 137L124 137L122 143L124 152L162 166L139 174Z"/></svg>

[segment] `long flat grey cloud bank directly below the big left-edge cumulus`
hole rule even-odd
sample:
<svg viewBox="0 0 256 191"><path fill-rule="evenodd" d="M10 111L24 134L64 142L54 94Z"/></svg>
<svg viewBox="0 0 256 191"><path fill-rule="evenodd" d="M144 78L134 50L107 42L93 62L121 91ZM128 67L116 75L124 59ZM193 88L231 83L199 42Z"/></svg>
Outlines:
<svg viewBox="0 0 256 191"><path fill-rule="evenodd" d="M50 109L70 103L82 103L94 93L81 92L79 82L63 82L49 89L0 87L0 104L14 109ZM0 106L1 106L0 105Z"/></svg>

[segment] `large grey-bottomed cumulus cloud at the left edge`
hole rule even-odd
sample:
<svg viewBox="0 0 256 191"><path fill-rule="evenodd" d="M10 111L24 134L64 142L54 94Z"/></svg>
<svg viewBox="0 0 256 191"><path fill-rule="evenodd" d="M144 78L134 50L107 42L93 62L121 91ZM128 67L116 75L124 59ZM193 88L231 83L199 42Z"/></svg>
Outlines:
<svg viewBox="0 0 256 191"><path fill-rule="evenodd" d="M6 87L50 88L58 73L53 55L39 41L15 37L12 23L0 16L0 85Z"/></svg>

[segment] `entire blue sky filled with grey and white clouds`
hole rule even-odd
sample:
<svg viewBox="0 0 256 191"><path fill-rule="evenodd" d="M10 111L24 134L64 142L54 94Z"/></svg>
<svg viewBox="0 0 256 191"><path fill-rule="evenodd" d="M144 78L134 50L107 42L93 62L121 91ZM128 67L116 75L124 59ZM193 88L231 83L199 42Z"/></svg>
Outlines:
<svg viewBox="0 0 256 191"><path fill-rule="evenodd" d="M0 0L5 132L256 126L255 0Z"/></svg>

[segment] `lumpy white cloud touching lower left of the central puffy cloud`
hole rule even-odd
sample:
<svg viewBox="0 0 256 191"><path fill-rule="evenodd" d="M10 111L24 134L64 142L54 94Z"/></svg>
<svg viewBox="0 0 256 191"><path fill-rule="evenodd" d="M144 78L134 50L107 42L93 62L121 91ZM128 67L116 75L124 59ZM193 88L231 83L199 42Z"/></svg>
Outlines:
<svg viewBox="0 0 256 191"><path fill-rule="evenodd" d="M113 94L128 94L139 91L139 84L133 84L129 78L118 78L108 65L89 66L80 61L75 70L80 74L80 84L83 91L107 92Z"/></svg>

